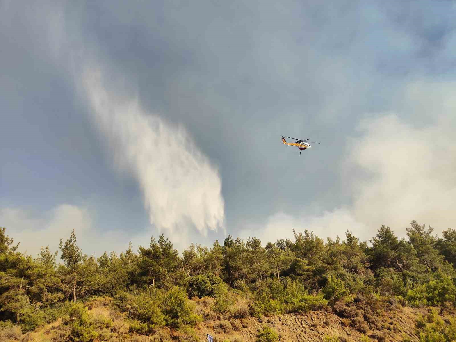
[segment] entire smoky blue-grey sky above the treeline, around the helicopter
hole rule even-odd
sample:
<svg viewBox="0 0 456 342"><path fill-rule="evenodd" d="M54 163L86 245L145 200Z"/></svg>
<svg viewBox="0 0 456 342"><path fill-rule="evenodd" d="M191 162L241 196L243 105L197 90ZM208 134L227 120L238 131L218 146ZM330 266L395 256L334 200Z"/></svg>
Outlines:
<svg viewBox="0 0 456 342"><path fill-rule="evenodd" d="M367 240L456 215L452 1L0 0L0 226ZM320 142L303 151L280 135Z"/></svg>

